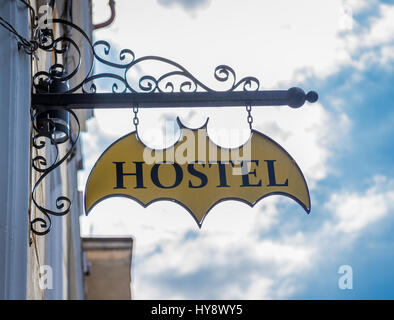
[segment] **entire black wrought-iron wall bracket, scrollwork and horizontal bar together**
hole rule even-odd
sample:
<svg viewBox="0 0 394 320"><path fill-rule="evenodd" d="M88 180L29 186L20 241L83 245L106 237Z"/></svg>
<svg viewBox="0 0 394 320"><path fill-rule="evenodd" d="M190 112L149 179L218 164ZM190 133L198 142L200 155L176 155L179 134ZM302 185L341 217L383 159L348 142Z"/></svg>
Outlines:
<svg viewBox="0 0 394 320"><path fill-rule="evenodd" d="M56 28L53 25L56 25ZM62 30L62 34L56 36L54 30L57 32ZM82 40L77 41L76 36ZM37 141L39 138L45 138L56 150L55 161L49 166L42 155L34 157L32 161L34 170L42 174L33 187L32 199L45 217L31 221L31 230L37 235L49 232L51 215L61 216L70 211L71 201L67 197L57 198L58 211L55 211L38 204L35 192L42 180L59 167L72 154L76 146L79 123L72 109L131 108L133 105L138 105L139 108L245 107L245 105L253 107L287 105L299 108L306 101L313 103L318 99L316 92L305 93L297 87L288 90L260 90L260 82L257 78L248 76L238 80L235 71L226 65L219 65L214 70L214 79L222 87L224 86L224 89L215 90L172 60L158 56L136 58L130 49L123 49L116 56L108 42L97 41L93 44L80 27L62 19L48 19L44 25L36 26L32 41L35 44L35 51L41 50L55 57L49 70L37 70L33 75L32 109L35 113L32 122L36 132L32 138L33 147L37 150L42 149L46 145L45 142ZM70 51L73 60L77 61L72 68L64 60L64 56ZM144 64L149 63L151 66L154 65L151 72L147 71L149 66L144 67ZM105 66L106 70L94 73L93 66L95 68ZM166 71L162 71L163 68ZM82 80L77 82L75 79ZM104 85L100 86L100 81L104 81ZM69 88L68 83L73 83L73 86ZM50 90L50 88L61 88L61 90ZM57 110L69 113L76 120L75 137L50 118L49 115L55 114ZM42 114L46 116L42 117ZM38 119L41 119L40 125L37 124ZM60 143L70 142L70 148L60 159L58 159L59 142L54 137L59 128L63 133L67 133L67 139L61 140ZM36 228L38 223L42 230Z"/></svg>

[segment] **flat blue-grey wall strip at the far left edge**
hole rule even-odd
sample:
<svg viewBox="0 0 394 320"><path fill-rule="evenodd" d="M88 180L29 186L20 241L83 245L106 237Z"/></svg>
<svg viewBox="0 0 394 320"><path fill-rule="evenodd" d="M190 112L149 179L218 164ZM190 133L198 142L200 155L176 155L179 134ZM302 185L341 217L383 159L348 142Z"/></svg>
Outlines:
<svg viewBox="0 0 394 320"><path fill-rule="evenodd" d="M0 1L0 15L29 38L28 10ZM30 175L30 57L0 28L0 299L26 298Z"/></svg>

